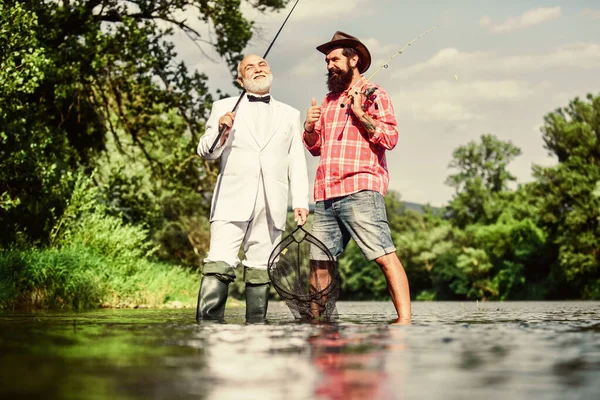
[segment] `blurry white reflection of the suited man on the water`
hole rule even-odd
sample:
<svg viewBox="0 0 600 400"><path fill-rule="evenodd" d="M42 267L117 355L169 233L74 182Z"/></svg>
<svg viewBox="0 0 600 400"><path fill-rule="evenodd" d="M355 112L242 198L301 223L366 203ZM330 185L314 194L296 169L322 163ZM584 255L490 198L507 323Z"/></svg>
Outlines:
<svg viewBox="0 0 600 400"><path fill-rule="evenodd" d="M239 314L243 316L243 310ZM230 320L237 321L235 311L230 315ZM308 332L302 328L294 324L200 324L197 336L203 339L200 345L207 368L201 375L207 396L310 398L310 382L315 377L304 362Z"/></svg>

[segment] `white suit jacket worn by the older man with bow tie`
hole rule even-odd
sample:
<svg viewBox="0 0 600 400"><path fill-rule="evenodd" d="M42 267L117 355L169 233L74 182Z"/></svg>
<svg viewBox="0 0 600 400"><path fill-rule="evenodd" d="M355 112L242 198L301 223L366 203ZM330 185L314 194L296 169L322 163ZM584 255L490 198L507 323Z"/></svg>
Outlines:
<svg viewBox="0 0 600 400"><path fill-rule="evenodd" d="M271 98L271 128L261 143L244 95L227 142L222 147L217 145L211 154L208 150L218 135L219 118L233 109L237 99L230 97L213 104L198 144L202 158L221 157L210 221L249 221L262 174L269 215L275 227L284 230L288 192L292 208L308 209L308 172L300 112Z"/></svg>

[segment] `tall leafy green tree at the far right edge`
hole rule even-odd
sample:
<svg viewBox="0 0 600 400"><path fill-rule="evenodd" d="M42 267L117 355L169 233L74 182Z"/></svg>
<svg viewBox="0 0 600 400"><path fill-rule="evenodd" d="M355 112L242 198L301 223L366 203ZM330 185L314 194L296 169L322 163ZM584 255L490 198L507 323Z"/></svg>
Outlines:
<svg viewBox="0 0 600 400"><path fill-rule="evenodd" d="M600 97L574 99L544 118L543 140L558 158L534 167L536 198L558 250L553 297L600 298Z"/></svg>

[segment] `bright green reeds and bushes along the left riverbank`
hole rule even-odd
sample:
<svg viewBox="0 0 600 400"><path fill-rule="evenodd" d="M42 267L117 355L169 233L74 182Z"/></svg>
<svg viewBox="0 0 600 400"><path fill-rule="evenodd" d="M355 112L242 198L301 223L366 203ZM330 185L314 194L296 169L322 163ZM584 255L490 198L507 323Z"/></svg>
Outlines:
<svg viewBox="0 0 600 400"><path fill-rule="evenodd" d="M45 248L0 251L0 308L195 305L197 273L153 260L148 232L109 215L80 178Z"/></svg>

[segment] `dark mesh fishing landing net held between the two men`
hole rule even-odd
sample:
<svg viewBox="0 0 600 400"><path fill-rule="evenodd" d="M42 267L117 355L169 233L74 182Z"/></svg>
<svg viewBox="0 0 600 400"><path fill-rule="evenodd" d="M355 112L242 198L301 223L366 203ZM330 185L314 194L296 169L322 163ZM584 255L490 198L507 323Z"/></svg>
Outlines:
<svg viewBox="0 0 600 400"><path fill-rule="evenodd" d="M318 254L319 260L311 260ZM267 269L273 287L296 319L329 320L337 316L340 294L337 262L325 245L302 226L281 239Z"/></svg>

